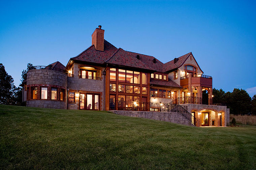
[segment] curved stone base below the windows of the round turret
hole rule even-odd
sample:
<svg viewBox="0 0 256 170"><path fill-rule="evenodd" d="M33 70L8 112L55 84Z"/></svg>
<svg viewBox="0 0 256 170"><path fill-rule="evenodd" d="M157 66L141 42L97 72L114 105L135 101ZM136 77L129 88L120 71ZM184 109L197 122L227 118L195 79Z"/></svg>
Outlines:
<svg viewBox="0 0 256 170"><path fill-rule="evenodd" d="M27 107L67 109L67 103L55 100L27 100Z"/></svg>

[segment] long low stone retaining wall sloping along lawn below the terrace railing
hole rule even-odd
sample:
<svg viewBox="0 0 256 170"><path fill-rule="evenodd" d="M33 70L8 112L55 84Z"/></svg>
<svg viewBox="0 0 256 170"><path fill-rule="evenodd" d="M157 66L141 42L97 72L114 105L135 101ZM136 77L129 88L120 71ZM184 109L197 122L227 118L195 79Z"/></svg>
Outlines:
<svg viewBox="0 0 256 170"><path fill-rule="evenodd" d="M170 113L170 112L139 112L139 111L111 111L118 115L130 116L130 117L139 117L154 119L160 121L166 121L171 123L178 123L187 126L193 126L189 120L179 113Z"/></svg>

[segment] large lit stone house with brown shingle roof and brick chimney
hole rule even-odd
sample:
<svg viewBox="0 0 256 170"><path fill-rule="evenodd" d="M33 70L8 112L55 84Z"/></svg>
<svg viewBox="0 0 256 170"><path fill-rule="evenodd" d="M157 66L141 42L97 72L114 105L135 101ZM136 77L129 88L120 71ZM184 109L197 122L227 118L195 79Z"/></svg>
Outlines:
<svg viewBox="0 0 256 170"><path fill-rule="evenodd" d="M28 107L181 112L196 126L226 126L229 110L213 105L211 76L192 52L162 63L116 48L96 28L92 45L69 59L36 66L22 83Z"/></svg>

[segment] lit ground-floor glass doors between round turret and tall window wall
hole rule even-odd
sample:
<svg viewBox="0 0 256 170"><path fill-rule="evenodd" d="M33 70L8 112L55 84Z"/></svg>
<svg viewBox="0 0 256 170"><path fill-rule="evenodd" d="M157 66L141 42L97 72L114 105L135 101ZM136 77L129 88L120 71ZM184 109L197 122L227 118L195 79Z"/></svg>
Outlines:
<svg viewBox="0 0 256 170"><path fill-rule="evenodd" d="M91 93L80 93L79 109L100 110L100 95Z"/></svg>

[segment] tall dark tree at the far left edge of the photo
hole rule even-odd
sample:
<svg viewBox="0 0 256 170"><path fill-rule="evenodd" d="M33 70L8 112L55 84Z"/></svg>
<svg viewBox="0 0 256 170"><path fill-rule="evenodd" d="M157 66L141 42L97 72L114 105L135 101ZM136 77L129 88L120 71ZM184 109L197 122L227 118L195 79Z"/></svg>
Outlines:
<svg viewBox="0 0 256 170"><path fill-rule="evenodd" d="M12 103L12 89L15 87L13 78L6 73L2 63L0 63L0 104Z"/></svg>

